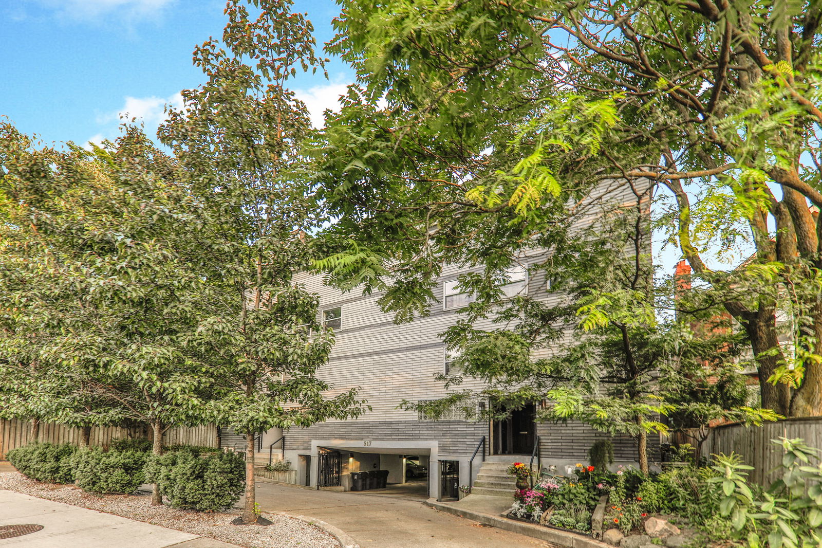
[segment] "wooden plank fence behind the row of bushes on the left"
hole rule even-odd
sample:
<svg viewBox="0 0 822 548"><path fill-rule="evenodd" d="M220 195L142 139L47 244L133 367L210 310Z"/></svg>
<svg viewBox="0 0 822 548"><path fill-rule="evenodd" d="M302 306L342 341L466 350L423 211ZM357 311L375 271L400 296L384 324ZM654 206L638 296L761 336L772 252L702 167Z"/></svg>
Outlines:
<svg viewBox="0 0 822 548"><path fill-rule="evenodd" d="M124 428L120 426L91 428L91 445L106 446L112 439L145 438L145 428ZM80 429L53 423L41 423L39 441L51 444L78 444ZM0 420L0 461L6 460L6 453L11 449L30 444L31 423L25 420ZM163 434L163 444L190 444L219 447L217 428L214 425L175 426Z"/></svg>

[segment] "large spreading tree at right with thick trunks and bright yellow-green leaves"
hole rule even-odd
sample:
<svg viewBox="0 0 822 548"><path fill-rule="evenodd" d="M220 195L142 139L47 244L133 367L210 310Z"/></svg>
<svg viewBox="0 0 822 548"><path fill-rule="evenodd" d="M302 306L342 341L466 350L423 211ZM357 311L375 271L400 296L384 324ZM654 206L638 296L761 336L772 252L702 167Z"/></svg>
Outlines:
<svg viewBox="0 0 822 548"><path fill-rule="evenodd" d="M383 153L381 142L427 152L432 141L421 137L446 137L452 150L469 147L441 155L446 165L464 158L492 165L506 151L522 160L508 167L528 168L527 187L511 192L488 172L436 183L409 166L405 176L418 184L390 197L437 204L438 185L457 185L461 211L544 207L586 181L651 179L672 197L663 219L672 241L745 328L764 406L791 416L822 413L822 239L814 209L822 205L822 11L815 2L342 5L331 47L358 68L366 96L385 95L399 120L392 132L354 132L368 136L372 155ZM560 127L586 132L570 116L609 101L611 116L594 139L569 142L566 131L557 138L557 128L542 122L552 109L567 109ZM518 117L527 129L506 149L493 136ZM330 137L339 138L335 131ZM492 153L481 158L480 143ZM435 143L431 156L447 148ZM371 167L366 149L354 149L349 174L358 162ZM728 253L743 240L756 251L744 267L707 266L705 253ZM778 345L775 311L785 294L799 324L795 357Z"/></svg>

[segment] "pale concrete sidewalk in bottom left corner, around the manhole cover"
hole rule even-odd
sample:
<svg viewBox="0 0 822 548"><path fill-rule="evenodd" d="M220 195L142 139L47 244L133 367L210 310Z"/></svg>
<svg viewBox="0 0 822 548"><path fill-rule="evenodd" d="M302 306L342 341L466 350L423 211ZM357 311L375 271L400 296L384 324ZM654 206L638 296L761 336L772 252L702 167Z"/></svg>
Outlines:
<svg viewBox="0 0 822 548"><path fill-rule="evenodd" d="M159 527L110 513L97 512L0 490L0 526L42 525L28 535L0 540L15 548L239 548L204 536Z"/></svg>

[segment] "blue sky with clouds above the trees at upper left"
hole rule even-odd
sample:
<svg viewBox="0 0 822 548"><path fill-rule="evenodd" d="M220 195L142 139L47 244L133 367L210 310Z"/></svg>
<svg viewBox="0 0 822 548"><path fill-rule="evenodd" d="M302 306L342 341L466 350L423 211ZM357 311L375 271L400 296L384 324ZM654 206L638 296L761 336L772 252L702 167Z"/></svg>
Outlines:
<svg viewBox="0 0 822 548"><path fill-rule="evenodd" d="M164 104L203 81L192 50L223 30L224 0L3 0L0 115L44 142L116 137L119 114L155 132ZM333 35L333 0L298 0L317 43ZM298 75L292 87L316 120L353 72L337 59L329 79Z"/></svg>

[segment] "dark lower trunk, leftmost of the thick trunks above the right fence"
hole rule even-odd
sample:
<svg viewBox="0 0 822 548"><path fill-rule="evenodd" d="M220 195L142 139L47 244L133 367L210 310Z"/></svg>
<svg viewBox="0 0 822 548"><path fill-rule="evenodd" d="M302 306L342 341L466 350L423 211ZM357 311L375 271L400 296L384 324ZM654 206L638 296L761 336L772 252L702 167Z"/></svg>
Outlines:
<svg viewBox="0 0 822 548"><path fill-rule="evenodd" d="M756 356L757 369L759 369L762 406L773 409L779 415L790 416L791 394L787 384L768 382L778 367L778 361L783 359L782 351L780 350L778 355L761 355L764 351L779 349L776 316L774 313L758 313L756 316L745 322L745 330L750 338L750 346Z"/></svg>

